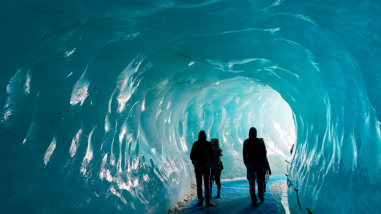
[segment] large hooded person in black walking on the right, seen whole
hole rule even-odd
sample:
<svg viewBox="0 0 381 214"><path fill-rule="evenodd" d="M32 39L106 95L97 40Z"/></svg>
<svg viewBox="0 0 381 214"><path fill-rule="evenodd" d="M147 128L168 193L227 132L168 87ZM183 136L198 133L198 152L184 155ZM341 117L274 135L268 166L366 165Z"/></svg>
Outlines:
<svg viewBox="0 0 381 214"><path fill-rule="evenodd" d="M266 163L266 146L262 139L256 137L256 128L249 130L249 138L243 142L243 163L247 170L247 179L249 181L250 196L255 205L258 199L255 196L255 179L258 186L258 198L264 201L263 189L263 169Z"/></svg>

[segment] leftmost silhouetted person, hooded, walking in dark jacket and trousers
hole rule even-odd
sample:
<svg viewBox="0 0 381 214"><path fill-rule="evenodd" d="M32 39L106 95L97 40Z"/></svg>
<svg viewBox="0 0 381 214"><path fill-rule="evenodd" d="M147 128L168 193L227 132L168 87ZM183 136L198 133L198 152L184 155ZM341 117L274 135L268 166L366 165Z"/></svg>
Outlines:
<svg viewBox="0 0 381 214"><path fill-rule="evenodd" d="M211 202L209 178L211 176L212 161L214 160L214 151L211 142L206 140L205 131L200 131L198 141L193 143L191 160L196 174L197 205L201 207L204 204L204 197L202 196L202 177L204 176L206 207L213 207L214 203Z"/></svg>

